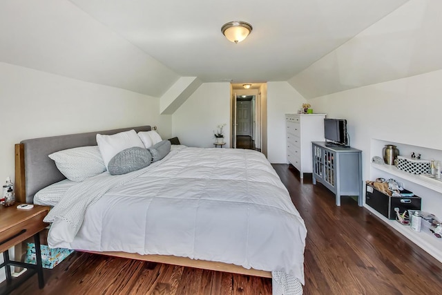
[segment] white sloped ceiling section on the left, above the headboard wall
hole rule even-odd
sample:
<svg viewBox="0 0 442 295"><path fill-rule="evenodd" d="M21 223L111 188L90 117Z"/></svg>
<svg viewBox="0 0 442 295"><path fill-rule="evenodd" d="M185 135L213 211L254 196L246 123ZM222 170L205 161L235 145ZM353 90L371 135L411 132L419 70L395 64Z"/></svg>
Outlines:
<svg viewBox="0 0 442 295"><path fill-rule="evenodd" d="M179 75L72 1L0 1L0 61L160 97Z"/></svg>

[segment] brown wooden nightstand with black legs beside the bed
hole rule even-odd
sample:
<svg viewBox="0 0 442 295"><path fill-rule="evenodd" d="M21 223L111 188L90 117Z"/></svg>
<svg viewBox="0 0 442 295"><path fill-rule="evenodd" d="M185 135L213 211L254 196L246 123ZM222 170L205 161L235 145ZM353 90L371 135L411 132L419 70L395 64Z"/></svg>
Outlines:
<svg viewBox="0 0 442 295"><path fill-rule="evenodd" d="M34 205L30 210L19 210L17 205L10 207L0 206L0 253L3 253L4 262L0 264L5 267L6 284L0 288L0 294L7 294L15 289L24 280L37 273L40 289L44 287L43 267L41 264L40 236L39 232L48 226L43 218L48 214L50 207ZM9 259L8 249L34 236L35 254L37 265L12 261ZM10 266L26 268L26 272L12 280Z"/></svg>

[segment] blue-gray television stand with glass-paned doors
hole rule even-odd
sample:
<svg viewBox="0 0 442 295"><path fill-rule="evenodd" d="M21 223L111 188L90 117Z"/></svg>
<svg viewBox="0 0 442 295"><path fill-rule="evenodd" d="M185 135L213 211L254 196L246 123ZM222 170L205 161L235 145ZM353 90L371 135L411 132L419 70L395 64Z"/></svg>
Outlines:
<svg viewBox="0 0 442 295"><path fill-rule="evenodd" d="M329 142L312 142L313 184L324 184L336 195L336 206L340 196L358 196L358 205L363 206L362 151L350 146L328 146Z"/></svg>

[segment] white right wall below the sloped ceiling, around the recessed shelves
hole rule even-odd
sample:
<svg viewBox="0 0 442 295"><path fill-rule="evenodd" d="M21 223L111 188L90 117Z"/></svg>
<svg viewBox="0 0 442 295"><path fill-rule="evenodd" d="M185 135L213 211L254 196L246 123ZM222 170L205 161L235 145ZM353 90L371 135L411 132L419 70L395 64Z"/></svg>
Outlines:
<svg viewBox="0 0 442 295"><path fill-rule="evenodd" d="M309 100L327 117L347 119L350 144L363 151L363 179L378 177L370 169L372 139L442 150L442 70L325 95ZM400 147L400 146L399 146ZM426 159L427 156L422 155ZM440 158L442 160L442 151ZM408 185L408 186L407 186ZM442 216L442 196L406 184L423 197L423 210Z"/></svg>

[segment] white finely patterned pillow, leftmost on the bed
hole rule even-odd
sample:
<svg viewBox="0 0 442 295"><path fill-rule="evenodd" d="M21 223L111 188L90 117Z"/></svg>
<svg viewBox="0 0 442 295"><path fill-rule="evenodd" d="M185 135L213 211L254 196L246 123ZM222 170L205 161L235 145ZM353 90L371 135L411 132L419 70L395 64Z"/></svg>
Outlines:
<svg viewBox="0 0 442 295"><path fill-rule="evenodd" d="M51 153L49 158L68 180L83 181L106 171L98 146L80 146Z"/></svg>

